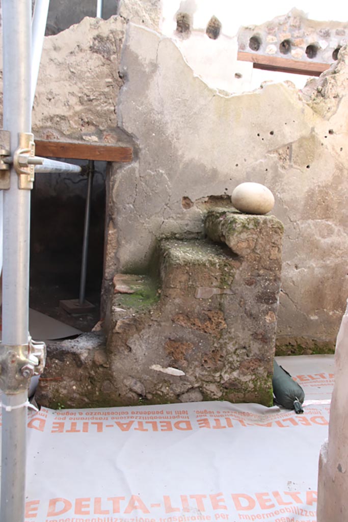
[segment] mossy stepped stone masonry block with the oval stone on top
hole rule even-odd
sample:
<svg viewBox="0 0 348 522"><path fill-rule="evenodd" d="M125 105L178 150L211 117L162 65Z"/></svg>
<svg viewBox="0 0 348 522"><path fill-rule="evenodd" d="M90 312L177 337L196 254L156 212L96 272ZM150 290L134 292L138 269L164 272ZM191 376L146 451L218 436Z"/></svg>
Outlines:
<svg viewBox="0 0 348 522"><path fill-rule="evenodd" d="M75 406L86 397L99 406L214 399L272 405L283 226L273 216L218 208L207 212L205 230L202 240L159 241L158 282L115 276L103 364L94 389L75 376ZM95 374L90 353L88 360L79 371ZM45 397L49 405L47 387ZM71 406L71 396L64 400Z"/></svg>

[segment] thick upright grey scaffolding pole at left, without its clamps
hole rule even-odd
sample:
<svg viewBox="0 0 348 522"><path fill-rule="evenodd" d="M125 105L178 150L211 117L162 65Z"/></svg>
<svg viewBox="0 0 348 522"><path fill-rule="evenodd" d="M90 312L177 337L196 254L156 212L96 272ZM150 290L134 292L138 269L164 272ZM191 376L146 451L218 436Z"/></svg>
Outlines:
<svg viewBox="0 0 348 522"><path fill-rule="evenodd" d="M18 133L31 131L31 0L2 2L4 129L11 133L11 155ZM4 191L3 332L4 345L27 345L29 323L30 191L18 188L15 169ZM2 395L3 404L24 405L28 393ZM27 407L2 417L1 522L25 518Z"/></svg>

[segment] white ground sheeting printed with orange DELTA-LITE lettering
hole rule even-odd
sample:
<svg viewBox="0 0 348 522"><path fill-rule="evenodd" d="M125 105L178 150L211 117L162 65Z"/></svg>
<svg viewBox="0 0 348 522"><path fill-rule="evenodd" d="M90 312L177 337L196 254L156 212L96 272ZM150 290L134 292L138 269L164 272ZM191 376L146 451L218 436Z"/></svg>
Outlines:
<svg viewBox="0 0 348 522"><path fill-rule="evenodd" d="M30 413L26 522L315 522L333 357L278 362L320 404Z"/></svg>

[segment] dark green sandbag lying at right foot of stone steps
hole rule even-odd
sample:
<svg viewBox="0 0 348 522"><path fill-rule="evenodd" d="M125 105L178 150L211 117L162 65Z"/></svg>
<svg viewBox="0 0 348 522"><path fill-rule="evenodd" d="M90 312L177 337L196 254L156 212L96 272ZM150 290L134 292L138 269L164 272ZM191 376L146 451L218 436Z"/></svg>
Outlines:
<svg viewBox="0 0 348 522"><path fill-rule="evenodd" d="M273 395L275 401L289 410L296 413L303 413L302 403L305 400L305 392L287 373L284 368L273 360Z"/></svg>

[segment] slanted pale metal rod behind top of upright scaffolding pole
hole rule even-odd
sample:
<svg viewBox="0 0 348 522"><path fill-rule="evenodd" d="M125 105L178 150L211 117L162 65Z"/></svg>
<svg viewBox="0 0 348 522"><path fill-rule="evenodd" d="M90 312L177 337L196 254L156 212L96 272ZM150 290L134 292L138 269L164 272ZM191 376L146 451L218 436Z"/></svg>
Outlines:
<svg viewBox="0 0 348 522"><path fill-rule="evenodd" d="M50 0L36 0L31 24L31 107L34 103Z"/></svg>

